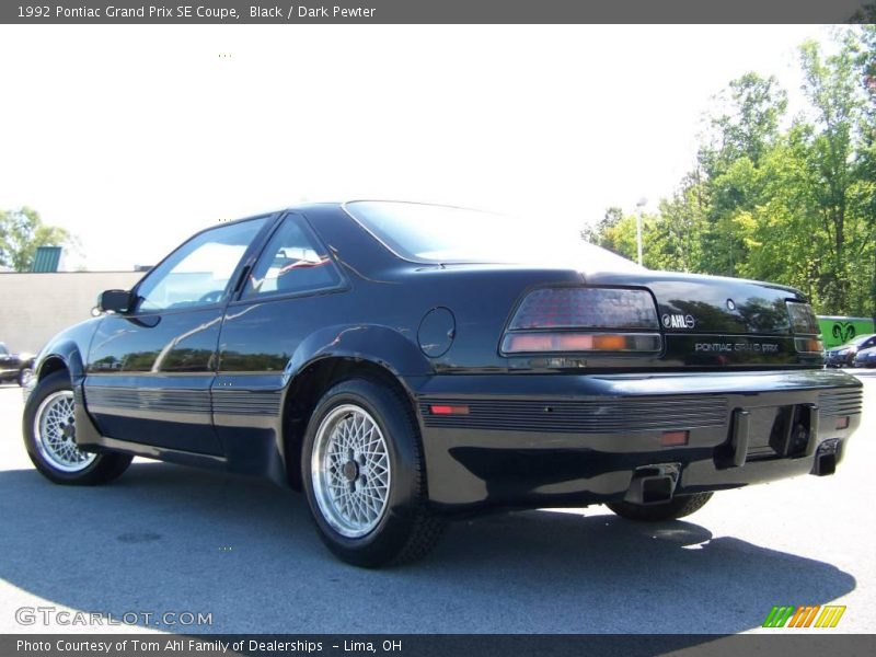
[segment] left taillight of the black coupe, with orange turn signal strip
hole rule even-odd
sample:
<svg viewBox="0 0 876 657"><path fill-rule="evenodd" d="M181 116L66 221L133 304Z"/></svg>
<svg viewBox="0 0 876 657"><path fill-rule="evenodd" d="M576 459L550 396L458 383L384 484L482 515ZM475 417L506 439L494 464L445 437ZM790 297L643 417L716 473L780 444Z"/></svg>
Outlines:
<svg viewBox="0 0 876 657"><path fill-rule="evenodd" d="M657 308L647 290L543 288L527 295L502 341L503 354L656 353Z"/></svg>

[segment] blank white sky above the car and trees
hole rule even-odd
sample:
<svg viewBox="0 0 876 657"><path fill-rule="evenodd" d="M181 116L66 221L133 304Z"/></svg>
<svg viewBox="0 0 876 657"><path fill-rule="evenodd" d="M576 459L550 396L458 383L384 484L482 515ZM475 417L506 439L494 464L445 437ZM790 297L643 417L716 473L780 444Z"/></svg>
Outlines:
<svg viewBox="0 0 876 657"><path fill-rule="evenodd" d="M794 26L0 26L0 208L89 269L300 200L583 226L668 196L748 70L799 108ZM224 55L220 57L220 55ZM78 264L68 257L67 265Z"/></svg>

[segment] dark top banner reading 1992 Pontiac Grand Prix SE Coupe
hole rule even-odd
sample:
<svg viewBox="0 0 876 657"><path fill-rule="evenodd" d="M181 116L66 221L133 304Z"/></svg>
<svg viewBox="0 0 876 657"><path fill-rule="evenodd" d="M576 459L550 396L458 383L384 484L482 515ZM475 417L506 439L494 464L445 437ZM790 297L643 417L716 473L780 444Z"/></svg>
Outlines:
<svg viewBox="0 0 876 657"><path fill-rule="evenodd" d="M876 0L7 0L0 23L848 23Z"/></svg>

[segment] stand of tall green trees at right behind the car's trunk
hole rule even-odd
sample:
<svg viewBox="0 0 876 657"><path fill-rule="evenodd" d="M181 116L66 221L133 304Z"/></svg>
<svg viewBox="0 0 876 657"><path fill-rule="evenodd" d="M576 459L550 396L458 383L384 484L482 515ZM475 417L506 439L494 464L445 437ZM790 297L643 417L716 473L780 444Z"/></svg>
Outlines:
<svg viewBox="0 0 876 657"><path fill-rule="evenodd" d="M800 46L808 107L791 119L774 78L728 84L695 168L646 217L646 266L772 280L820 313L876 315L876 26L832 50ZM618 208L581 237L635 258L635 218Z"/></svg>

